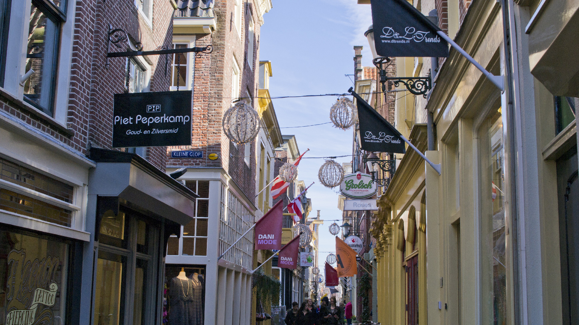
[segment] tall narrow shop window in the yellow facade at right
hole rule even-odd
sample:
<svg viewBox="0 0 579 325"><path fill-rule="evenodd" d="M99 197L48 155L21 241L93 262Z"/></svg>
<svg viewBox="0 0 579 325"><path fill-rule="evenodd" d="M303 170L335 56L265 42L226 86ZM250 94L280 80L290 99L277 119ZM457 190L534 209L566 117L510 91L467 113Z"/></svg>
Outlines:
<svg viewBox="0 0 579 325"><path fill-rule="evenodd" d="M501 109L479 128L481 139L481 287L483 323L507 323L504 139Z"/></svg>

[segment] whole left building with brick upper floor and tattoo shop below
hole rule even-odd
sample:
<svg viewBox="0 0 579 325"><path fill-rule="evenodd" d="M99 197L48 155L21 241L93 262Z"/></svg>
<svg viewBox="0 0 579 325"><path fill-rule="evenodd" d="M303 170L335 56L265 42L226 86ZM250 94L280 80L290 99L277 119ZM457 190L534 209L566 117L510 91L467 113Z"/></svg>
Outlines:
<svg viewBox="0 0 579 325"><path fill-rule="evenodd" d="M114 95L167 91L171 77L166 56L107 60L107 40L120 28L126 42L110 51L168 48L173 11L158 0L0 2L6 323L162 324L166 241L195 220L199 195L165 173L165 147L111 150ZM27 264L53 272L24 276ZM53 300L36 309L39 292Z"/></svg>

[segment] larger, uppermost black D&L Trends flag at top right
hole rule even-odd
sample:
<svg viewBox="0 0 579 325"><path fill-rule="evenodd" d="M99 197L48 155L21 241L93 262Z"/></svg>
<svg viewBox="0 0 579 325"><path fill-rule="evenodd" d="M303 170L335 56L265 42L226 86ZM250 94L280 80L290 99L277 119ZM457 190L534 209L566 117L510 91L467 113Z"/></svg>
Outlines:
<svg viewBox="0 0 579 325"><path fill-rule="evenodd" d="M371 0L376 53L382 57L448 57L441 29L406 0Z"/></svg>

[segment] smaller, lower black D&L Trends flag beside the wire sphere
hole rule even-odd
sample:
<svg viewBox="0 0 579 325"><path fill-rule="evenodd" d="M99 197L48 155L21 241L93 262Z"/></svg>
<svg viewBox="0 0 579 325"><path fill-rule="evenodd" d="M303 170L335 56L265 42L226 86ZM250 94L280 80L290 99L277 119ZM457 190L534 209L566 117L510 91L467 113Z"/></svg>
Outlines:
<svg viewBox="0 0 579 325"><path fill-rule="evenodd" d="M405 142L400 137L402 134L352 88L348 92L356 98L358 106L362 149L371 152L406 153Z"/></svg>

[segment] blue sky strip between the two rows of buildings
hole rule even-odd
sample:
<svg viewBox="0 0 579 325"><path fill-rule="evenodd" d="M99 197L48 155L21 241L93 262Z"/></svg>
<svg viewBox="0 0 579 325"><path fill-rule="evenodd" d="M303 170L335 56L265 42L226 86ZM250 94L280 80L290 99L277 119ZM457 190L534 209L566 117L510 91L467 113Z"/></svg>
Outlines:
<svg viewBox="0 0 579 325"><path fill-rule="evenodd" d="M372 24L369 5L357 0L273 0L273 9L263 15L259 42L260 60L272 61L273 76L269 90L272 97L347 93L353 86L354 45L364 46L362 64L372 65L364 31ZM336 97L273 99L280 127L294 127L329 122L329 108ZM283 128L282 134L295 134L304 157L351 155L352 130L342 131L333 124L304 128ZM350 157L336 158L350 162ZM299 179L308 184L312 212L321 210L321 219L341 219L338 209L338 187L327 189L318 180L323 159L303 159ZM333 252L335 240L328 232L333 221L320 228L320 251ZM342 224L337 221L338 224ZM323 267L328 253L320 253Z"/></svg>

